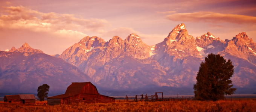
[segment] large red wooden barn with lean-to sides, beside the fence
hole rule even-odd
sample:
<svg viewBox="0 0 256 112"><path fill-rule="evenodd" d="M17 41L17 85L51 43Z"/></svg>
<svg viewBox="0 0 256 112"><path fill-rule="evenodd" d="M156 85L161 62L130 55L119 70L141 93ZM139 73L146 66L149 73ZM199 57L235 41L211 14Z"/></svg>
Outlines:
<svg viewBox="0 0 256 112"><path fill-rule="evenodd" d="M99 94L95 85L91 82L72 83L67 87L65 94L47 98L48 105L70 104L70 103L112 103L114 97Z"/></svg>

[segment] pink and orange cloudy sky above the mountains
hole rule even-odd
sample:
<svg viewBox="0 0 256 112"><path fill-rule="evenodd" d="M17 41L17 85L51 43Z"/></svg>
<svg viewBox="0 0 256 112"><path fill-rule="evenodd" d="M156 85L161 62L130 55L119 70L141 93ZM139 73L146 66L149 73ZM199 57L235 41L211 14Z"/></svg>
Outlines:
<svg viewBox="0 0 256 112"><path fill-rule="evenodd" d="M89 35L109 41L136 33L149 46L184 23L194 38L210 32L256 41L255 0L1 0L0 50L28 43L48 55Z"/></svg>

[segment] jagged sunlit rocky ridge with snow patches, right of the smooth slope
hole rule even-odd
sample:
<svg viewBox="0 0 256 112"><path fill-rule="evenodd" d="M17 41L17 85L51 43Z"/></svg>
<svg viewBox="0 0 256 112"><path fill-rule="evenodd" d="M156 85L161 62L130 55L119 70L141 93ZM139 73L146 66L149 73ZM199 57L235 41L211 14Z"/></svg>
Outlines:
<svg viewBox="0 0 256 112"><path fill-rule="evenodd" d="M139 35L130 34L125 40L114 36L109 41L85 37L65 50L59 57L77 66L97 84L110 88L139 88L148 85L190 87L195 83L200 63L209 53L220 53L236 63L234 84L256 86L256 80L239 76L242 69L256 72L255 43L246 33L232 40L220 40L210 32L194 38L184 24L177 25L158 44L148 46ZM248 61L247 61L248 60ZM248 77L256 74L247 74ZM246 75L246 76L247 76ZM244 79L245 78L245 79ZM249 81L250 80L250 81ZM243 84L241 84L243 83Z"/></svg>

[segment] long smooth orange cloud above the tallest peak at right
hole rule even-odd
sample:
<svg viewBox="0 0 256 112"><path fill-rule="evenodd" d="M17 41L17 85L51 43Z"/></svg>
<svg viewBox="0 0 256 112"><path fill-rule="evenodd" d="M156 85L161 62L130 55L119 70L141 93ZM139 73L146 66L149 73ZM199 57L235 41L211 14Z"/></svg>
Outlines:
<svg viewBox="0 0 256 112"><path fill-rule="evenodd" d="M229 22L235 24L256 24L256 17L253 16L222 14L215 12L175 13L167 15L166 18L171 21L182 22Z"/></svg>

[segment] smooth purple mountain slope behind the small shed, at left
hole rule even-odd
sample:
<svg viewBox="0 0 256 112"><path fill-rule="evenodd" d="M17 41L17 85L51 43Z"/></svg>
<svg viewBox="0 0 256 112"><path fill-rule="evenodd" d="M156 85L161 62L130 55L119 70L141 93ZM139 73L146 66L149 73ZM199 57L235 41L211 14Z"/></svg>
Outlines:
<svg viewBox="0 0 256 112"><path fill-rule="evenodd" d="M26 50L31 49L27 47L23 45L15 52L0 51L0 91L36 93L40 85L48 84L50 92L56 93L72 82L92 81L76 66L38 53L40 50Z"/></svg>

